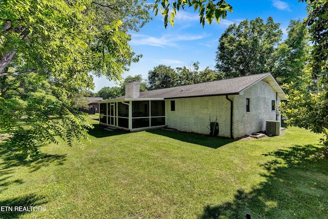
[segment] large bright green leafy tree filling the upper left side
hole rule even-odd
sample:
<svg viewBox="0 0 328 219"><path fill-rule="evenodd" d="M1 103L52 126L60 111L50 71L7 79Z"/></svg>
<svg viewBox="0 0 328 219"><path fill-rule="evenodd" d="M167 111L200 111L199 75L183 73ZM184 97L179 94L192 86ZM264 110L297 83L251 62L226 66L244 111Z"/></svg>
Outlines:
<svg viewBox="0 0 328 219"><path fill-rule="evenodd" d="M149 7L136 0L0 1L0 128L10 141L35 154L56 136L69 145L86 138L90 125L74 110L74 93L93 88L89 72L120 79L138 60L126 31L149 21Z"/></svg>

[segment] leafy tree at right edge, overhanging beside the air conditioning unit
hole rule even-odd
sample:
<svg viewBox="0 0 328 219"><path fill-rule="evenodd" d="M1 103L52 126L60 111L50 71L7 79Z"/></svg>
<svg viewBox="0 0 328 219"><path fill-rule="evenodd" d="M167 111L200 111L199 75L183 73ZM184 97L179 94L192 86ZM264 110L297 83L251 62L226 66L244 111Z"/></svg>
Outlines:
<svg viewBox="0 0 328 219"><path fill-rule="evenodd" d="M323 133L321 139L328 156L328 1L305 1L308 18L305 24L310 27L313 41L312 58L309 67L312 80L306 89L289 86L288 102L282 104L281 110L289 118L288 123Z"/></svg>

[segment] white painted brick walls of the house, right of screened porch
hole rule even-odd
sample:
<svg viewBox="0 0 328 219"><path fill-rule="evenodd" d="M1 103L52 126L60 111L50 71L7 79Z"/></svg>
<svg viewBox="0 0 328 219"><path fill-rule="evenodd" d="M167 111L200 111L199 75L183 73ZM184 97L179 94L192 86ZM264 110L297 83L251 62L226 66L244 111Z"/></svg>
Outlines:
<svg viewBox="0 0 328 219"><path fill-rule="evenodd" d="M265 121L276 120L276 111L271 110L271 101L276 99L276 92L264 81L251 86L242 95L229 95L229 98L234 104L235 138L264 131ZM250 112L246 112L246 98L250 98ZM171 101L175 101L175 111L171 111ZM230 102L226 96L166 100L166 124L169 128L209 134L210 122L215 122L216 118L219 123L219 136L230 137Z"/></svg>

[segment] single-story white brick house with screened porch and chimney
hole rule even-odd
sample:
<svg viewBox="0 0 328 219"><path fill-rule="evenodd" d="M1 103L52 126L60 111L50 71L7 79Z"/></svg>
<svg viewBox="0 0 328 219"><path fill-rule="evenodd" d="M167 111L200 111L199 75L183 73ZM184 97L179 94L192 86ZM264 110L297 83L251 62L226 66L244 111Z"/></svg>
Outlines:
<svg viewBox="0 0 328 219"><path fill-rule="evenodd" d="M265 121L280 121L276 106L285 93L271 73L139 93L130 82L126 95L99 103L99 123L138 131L168 127L200 134L219 124L219 136L237 138L264 131Z"/></svg>

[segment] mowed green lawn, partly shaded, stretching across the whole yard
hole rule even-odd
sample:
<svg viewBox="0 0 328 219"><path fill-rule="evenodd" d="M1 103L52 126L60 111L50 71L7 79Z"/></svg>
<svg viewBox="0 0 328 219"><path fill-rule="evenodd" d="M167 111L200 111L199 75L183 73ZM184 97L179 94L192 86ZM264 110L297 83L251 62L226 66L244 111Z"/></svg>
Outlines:
<svg viewBox="0 0 328 219"><path fill-rule="evenodd" d="M45 210L0 218L328 218L328 160L310 131L232 141L93 123L91 143L32 163L0 150L0 207Z"/></svg>

